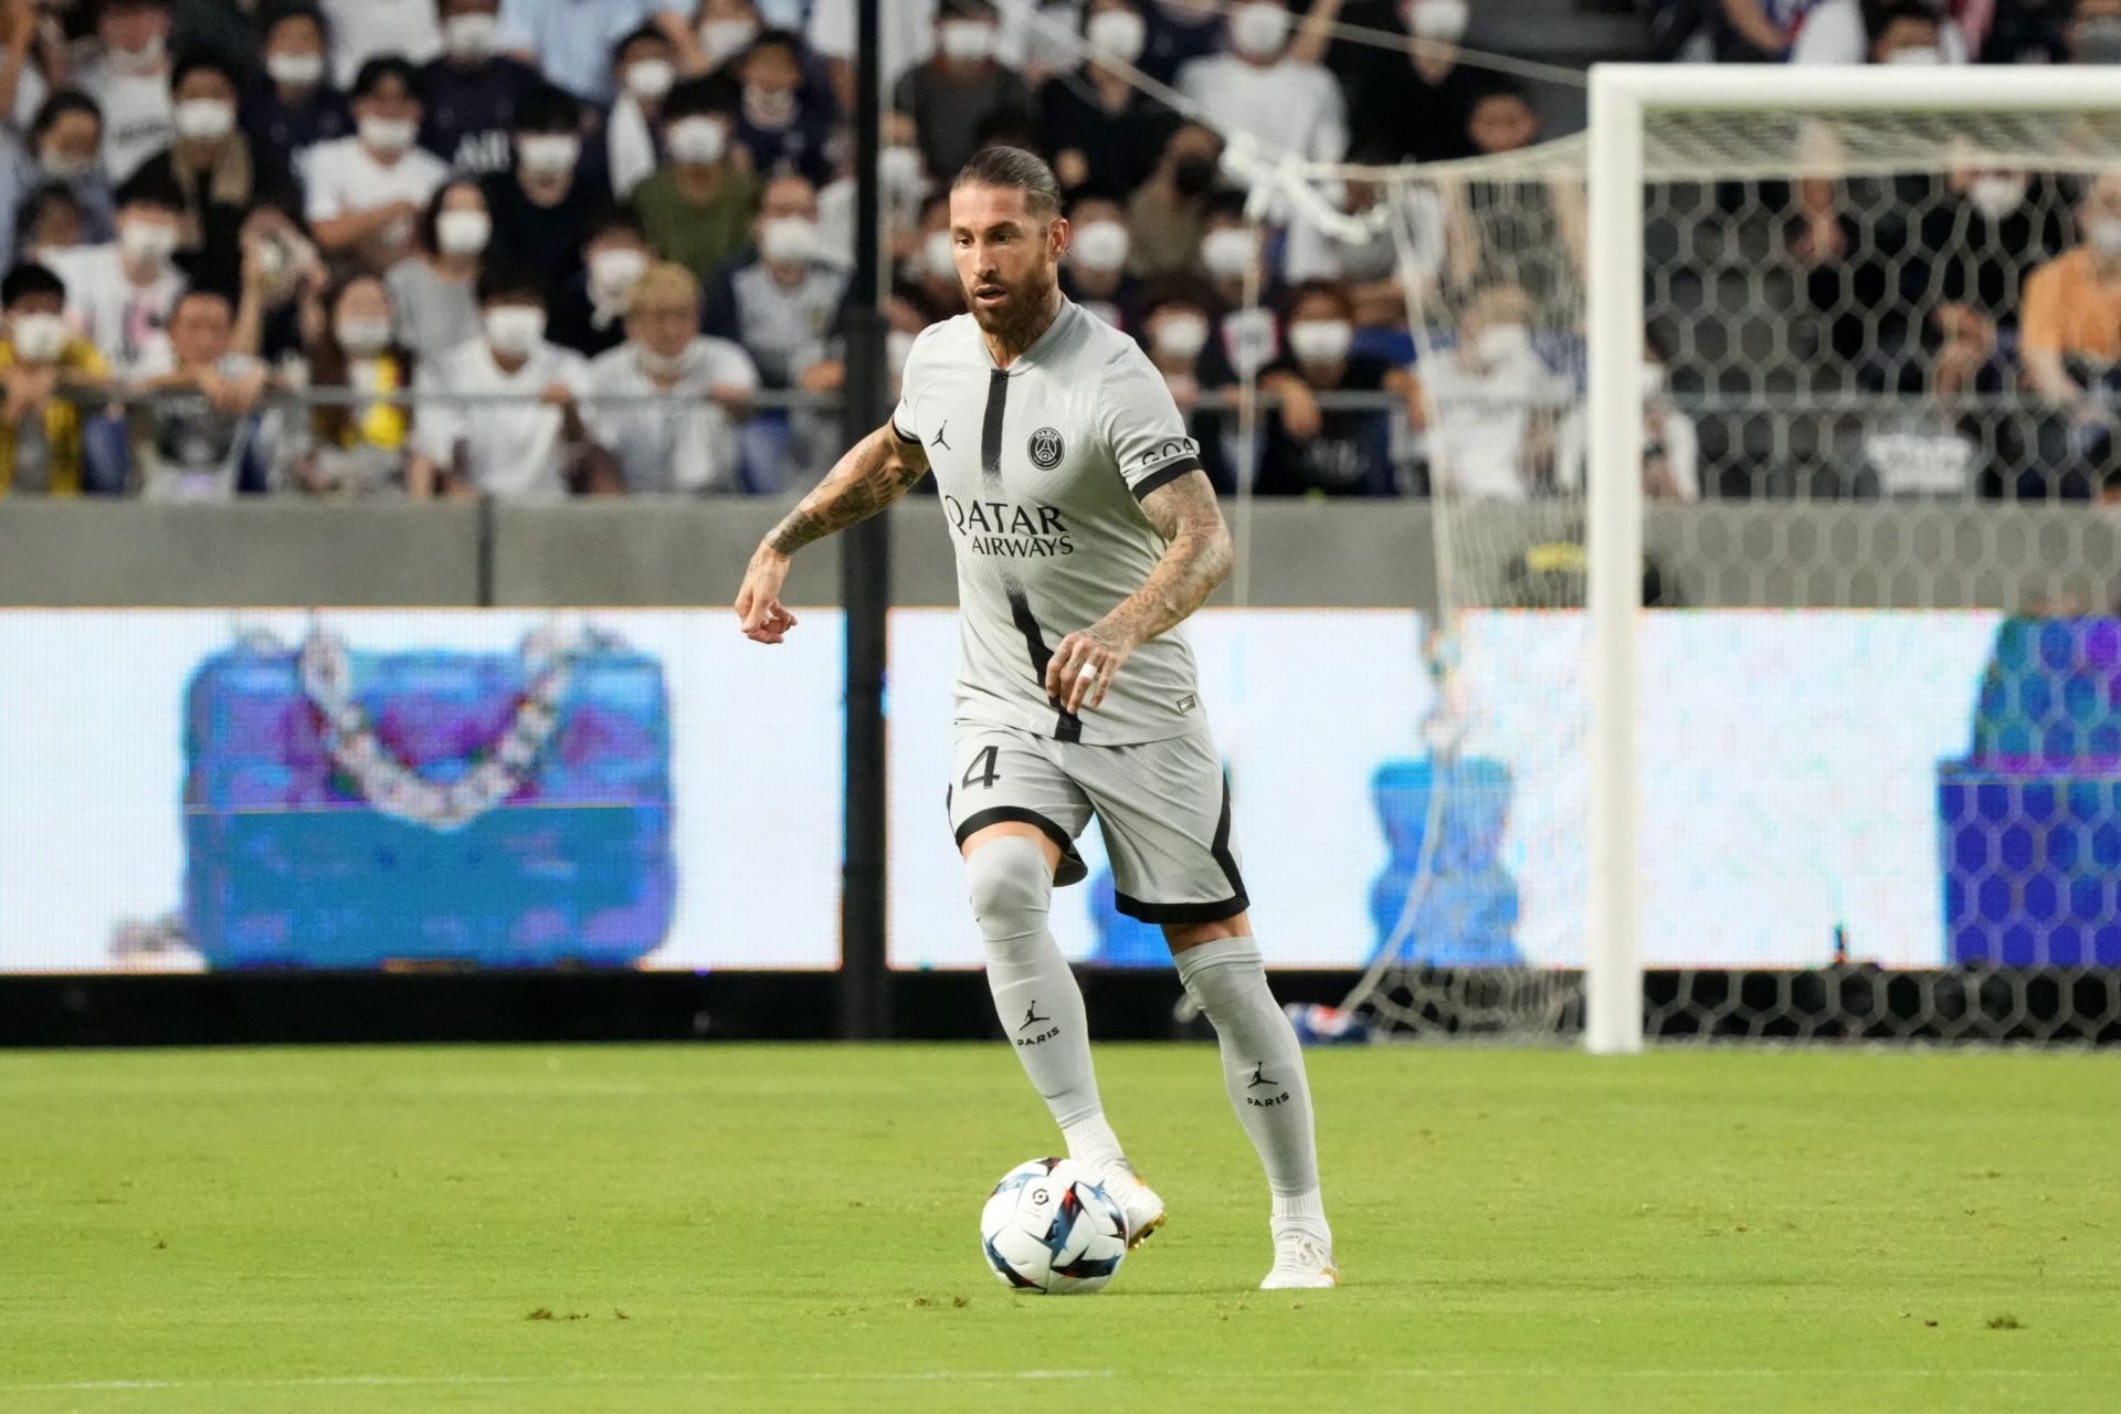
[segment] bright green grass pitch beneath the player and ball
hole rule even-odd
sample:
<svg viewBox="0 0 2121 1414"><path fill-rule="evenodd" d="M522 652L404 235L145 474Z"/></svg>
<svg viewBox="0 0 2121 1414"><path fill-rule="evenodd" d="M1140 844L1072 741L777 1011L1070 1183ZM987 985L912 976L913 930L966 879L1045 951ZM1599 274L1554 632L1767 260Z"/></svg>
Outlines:
<svg viewBox="0 0 2121 1414"><path fill-rule="evenodd" d="M1027 1297L999 1043L0 1054L0 1410L2121 1408L2115 1056L1315 1051L1275 1295L1213 1051L1099 1068L1171 1225Z"/></svg>

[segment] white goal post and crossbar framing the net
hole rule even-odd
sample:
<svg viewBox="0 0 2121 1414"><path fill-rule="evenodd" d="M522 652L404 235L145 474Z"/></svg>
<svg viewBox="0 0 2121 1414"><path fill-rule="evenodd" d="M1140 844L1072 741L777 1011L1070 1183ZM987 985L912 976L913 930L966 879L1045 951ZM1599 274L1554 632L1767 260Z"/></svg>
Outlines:
<svg viewBox="0 0 2121 1414"><path fill-rule="evenodd" d="M1591 70L1589 131L1589 916L1584 1045L1642 1049L1637 920L1642 625L1642 360L1646 129L1671 112L1805 114L2121 114L2121 72L2038 68L1792 68L1606 64ZM1773 129L1763 127L1763 142ZM1784 170L1796 165L1775 155Z"/></svg>

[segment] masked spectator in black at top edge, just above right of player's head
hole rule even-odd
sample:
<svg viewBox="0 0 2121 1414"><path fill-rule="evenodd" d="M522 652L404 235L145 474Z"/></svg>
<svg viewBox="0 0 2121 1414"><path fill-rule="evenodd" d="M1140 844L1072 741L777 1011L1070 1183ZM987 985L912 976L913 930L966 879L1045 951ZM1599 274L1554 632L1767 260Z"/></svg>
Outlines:
<svg viewBox="0 0 2121 1414"><path fill-rule="evenodd" d="M1054 155L1054 176L1063 191L1094 180L1126 197L1150 180L1158 153L1177 127L1169 108L1099 57L1111 55L1126 64L1141 57L1150 32L1145 2L1090 0L1082 30L1090 57L1039 89L1041 151Z"/></svg>

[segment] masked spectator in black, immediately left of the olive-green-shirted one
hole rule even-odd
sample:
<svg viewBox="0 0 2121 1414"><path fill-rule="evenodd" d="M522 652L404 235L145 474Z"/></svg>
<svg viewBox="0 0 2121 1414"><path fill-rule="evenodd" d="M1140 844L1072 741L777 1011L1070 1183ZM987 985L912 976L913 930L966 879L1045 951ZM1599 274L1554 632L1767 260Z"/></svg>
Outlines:
<svg viewBox="0 0 2121 1414"><path fill-rule="evenodd" d="M515 167L479 189L494 216L494 259L541 271L547 297L581 273L581 246L611 206L602 170L581 159L581 104L549 83L515 104Z"/></svg>

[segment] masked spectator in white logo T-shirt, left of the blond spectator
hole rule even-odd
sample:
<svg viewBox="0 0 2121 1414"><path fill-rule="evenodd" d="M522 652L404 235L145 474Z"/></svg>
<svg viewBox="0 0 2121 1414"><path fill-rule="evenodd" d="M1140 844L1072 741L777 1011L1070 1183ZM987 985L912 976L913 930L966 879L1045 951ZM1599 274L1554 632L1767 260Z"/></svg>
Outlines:
<svg viewBox="0 0 2121 1414"><path fill-rule="evenodd" d="M545 341L543 286L534 271L488 265L479 276L481 337L420 367L414 388L431 401L420 405L405 471L414 500L560 500L585 469L575 399L588 363ZM452 403L450 394L486 401Z"/></svg>

